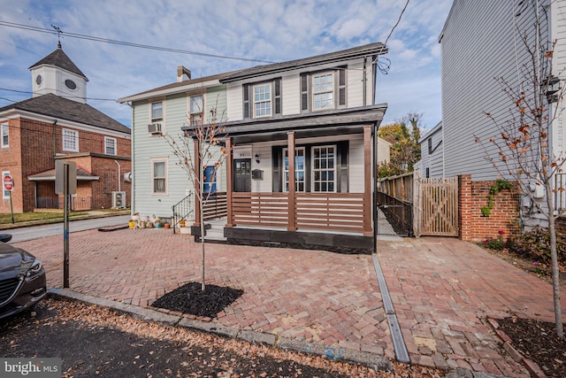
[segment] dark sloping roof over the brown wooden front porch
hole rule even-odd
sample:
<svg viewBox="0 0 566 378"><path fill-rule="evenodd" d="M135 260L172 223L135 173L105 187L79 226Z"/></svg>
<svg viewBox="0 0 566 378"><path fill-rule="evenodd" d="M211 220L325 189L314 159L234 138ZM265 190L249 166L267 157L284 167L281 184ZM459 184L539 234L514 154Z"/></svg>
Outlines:
<svg viewBox="0 0 566 378"><path fill-rule="evenodd" d="M324 112L309 112L277 118L237 120L222 123L226 135L235 143L287 140L287 132L297 137L361 134L363 126L381 123L386 104L362 106ZM181 127L192 131L194 127Z"/></svg>

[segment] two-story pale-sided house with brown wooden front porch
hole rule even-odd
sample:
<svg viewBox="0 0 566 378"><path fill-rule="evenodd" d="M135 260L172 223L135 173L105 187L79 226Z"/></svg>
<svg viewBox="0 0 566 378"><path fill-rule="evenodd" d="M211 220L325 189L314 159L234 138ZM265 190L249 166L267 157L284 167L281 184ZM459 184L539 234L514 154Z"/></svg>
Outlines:
<svg viewBox="0 0 566 378"><path fill-rule="evenodd" d="M230 151L217 181L226 191L228 243L371 251L377 130L386 112L374 104L376 62L385 53L376 42L185 81L181 67L179 82L119 99L134 109L135 211L163 215L157 204L174 204L191 187L151 135L155 125L190 132L194 112L216 108L226 114L219 121Z"/></svg>

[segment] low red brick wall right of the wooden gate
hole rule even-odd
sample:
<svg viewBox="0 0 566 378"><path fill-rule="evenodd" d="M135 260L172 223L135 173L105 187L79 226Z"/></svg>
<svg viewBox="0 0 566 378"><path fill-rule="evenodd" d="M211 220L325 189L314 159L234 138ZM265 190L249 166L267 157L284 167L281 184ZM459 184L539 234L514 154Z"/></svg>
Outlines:
<svg viewBox="0 0 566 378"><path fill-rule="evenodd" d="M493 198L493 208L487 217L481 208L487 206L489 190L495 181L471 181L471 175L459 177L460 187L460 238L479 242L489 237L496 238L500 231L504 238L520 233L518 189L503 189Z"/></svg>

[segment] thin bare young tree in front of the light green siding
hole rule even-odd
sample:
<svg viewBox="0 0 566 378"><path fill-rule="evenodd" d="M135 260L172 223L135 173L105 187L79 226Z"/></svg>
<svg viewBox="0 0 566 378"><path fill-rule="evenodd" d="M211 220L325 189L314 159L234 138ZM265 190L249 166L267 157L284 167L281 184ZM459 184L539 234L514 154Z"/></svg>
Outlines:
<svg viewBox="0 0 566 378"><path fill-rule="evenodd" d="M199 104L203 106L203 104ZM202 109L201 109L202 111ZM203 119L204 112L200 112L197 118L188 117L188 126L184 135L163 135L165 141L171 146L172 153L177 158L176 165L180 166L187 179L193 184L195 199L200 204L200 229L201 229L201 268L202 282L201 289L204 291L205 286L205 253L204 253L204 220L203 205L214 194L212 182L216 182L218 170L226 160L226 156L230 151L226 150L226 127L218 123L216 107L210 110L210 119L205 122ZM198 147L195 148L194 141L198 141ZM210 168L211 174L209 180L205 177L205 170Z"/></svg>

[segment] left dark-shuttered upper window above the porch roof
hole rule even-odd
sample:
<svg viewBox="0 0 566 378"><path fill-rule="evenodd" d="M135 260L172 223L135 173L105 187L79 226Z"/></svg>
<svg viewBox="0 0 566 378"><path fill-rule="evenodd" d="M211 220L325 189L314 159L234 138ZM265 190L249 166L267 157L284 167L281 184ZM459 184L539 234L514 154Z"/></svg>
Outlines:
<svg viewBox="0 0 566 378"><path fill-rule="evenodd" d="M243 86L244 118L281 114L281 79Z"/></svg>

